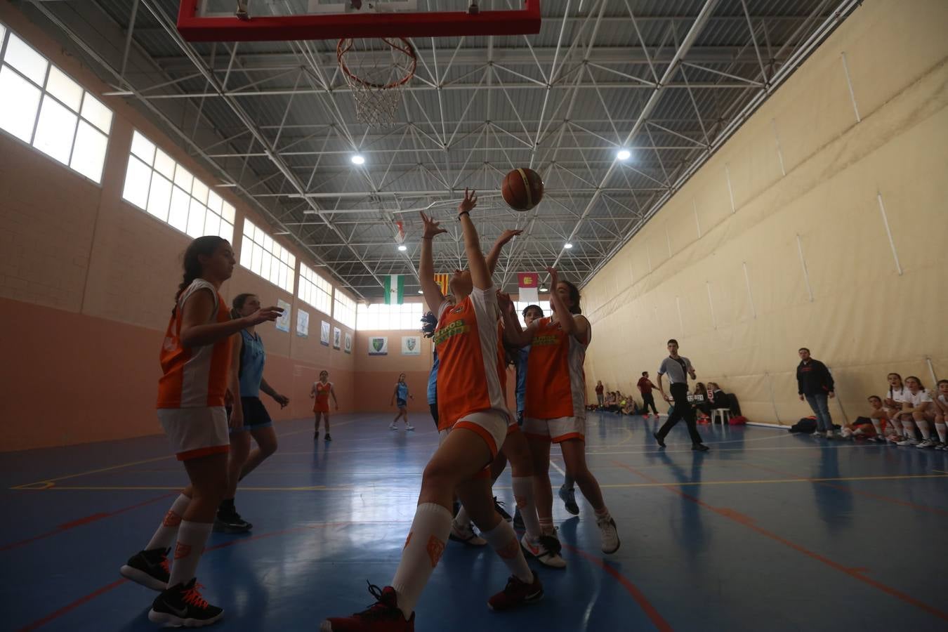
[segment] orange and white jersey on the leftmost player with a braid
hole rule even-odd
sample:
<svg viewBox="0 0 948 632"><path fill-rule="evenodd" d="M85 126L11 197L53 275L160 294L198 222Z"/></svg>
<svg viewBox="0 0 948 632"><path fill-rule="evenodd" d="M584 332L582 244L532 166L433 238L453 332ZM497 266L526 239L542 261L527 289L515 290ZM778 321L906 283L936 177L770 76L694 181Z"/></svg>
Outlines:
<svg viewBox="0 0 948 632"><path fill-rule="evenodd" d="M202 347L183 347L181 334L182 306L195 292L210 290L217 304L210 315L212 322L230 319L228 305L210 282L195 279L178 298L161 346L161 378L158 380L159 408L195 408L224 406L230 370L230 337Z"/></svg>

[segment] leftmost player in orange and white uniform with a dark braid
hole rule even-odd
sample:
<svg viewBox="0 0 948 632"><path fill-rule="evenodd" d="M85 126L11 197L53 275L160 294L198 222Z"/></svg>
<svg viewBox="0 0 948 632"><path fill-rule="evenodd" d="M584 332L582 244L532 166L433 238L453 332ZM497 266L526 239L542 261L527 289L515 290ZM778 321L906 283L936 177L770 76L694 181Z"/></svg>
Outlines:
<svg viewBox="0 0 948 632"><path fill-rule="evenodd" d="M145 549L120 569L138 584L161 591L148 613L155 623L208 625L224 614L198 594L194 573L228 484L228 388L240 401L231 336L276 320L283 311L268 307L232 320L219 290L235 264L227 240L206 236L191 242L161 347L158 420L191 484L174 500ZM241 406L234 407L229 424L244 424ZM175 541L169 571L167 554Z"/></svg>

